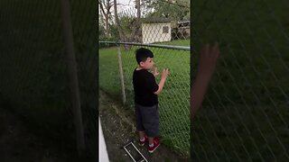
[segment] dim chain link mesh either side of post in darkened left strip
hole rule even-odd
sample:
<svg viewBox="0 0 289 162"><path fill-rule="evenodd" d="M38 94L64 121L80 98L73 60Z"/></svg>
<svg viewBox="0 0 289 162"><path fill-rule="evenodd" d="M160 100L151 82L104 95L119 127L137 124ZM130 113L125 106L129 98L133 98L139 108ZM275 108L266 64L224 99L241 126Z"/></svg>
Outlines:
<svg viewBox="0 0 289 162"><path fill-rule="evenodd" d="M70 8L86 152L96 159L96 4L72 0ZM61 2L1 1L0 24L2 105L20 114L35 133L55 139L63 147L61 151L74 154L77 147L70 110Z"/></svg>

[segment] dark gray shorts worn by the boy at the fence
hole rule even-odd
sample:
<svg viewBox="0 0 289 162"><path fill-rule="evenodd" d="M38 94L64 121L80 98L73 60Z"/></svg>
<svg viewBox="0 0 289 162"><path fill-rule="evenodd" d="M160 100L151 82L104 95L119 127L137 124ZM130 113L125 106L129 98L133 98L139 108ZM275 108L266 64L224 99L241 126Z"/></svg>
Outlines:
<svg viewBox="0 0 289 162"><path fill-rule="evenodd" d="M136 130L144 131L148 137L159 136L159 107L151 107L135 103Z"/></svg>

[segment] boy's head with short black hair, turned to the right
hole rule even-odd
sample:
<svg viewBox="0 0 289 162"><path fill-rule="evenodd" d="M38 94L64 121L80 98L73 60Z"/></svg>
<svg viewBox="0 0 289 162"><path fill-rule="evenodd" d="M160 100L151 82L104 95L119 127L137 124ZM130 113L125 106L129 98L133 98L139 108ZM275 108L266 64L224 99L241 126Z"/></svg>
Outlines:
<svg viewBox="0 0 289 162"><path fill-rule="evenodd" d="M152 67L154 67L154 54L150 49L136 49L135 58L137 64L144 69L151 69Z"/></svg>

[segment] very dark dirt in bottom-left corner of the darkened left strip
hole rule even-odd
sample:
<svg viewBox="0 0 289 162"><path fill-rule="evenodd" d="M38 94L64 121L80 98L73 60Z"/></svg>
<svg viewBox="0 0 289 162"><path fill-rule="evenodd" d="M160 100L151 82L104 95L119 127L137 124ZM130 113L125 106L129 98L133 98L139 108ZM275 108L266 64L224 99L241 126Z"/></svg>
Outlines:
<svg viewBox="0 0 289 162"><path fill-rule="evenodd" d="M25 122L0 106L1 162L65 162L75 156L61 149L61 143L33 134Z"/></svg>

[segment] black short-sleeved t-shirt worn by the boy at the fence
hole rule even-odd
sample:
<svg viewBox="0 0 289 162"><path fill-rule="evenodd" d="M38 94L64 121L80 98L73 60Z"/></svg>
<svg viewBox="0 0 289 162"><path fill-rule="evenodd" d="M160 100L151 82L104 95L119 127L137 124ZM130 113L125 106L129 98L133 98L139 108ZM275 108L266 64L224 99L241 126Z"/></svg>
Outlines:
<svg viewBox="0 0 289 162"><path fill-rule="evenodd" d="M146 69L134 71L133 84L135 91L135 103L143 106L153 106L158 103L157 95L154 94L159 89L154 75Z"/></svg>

